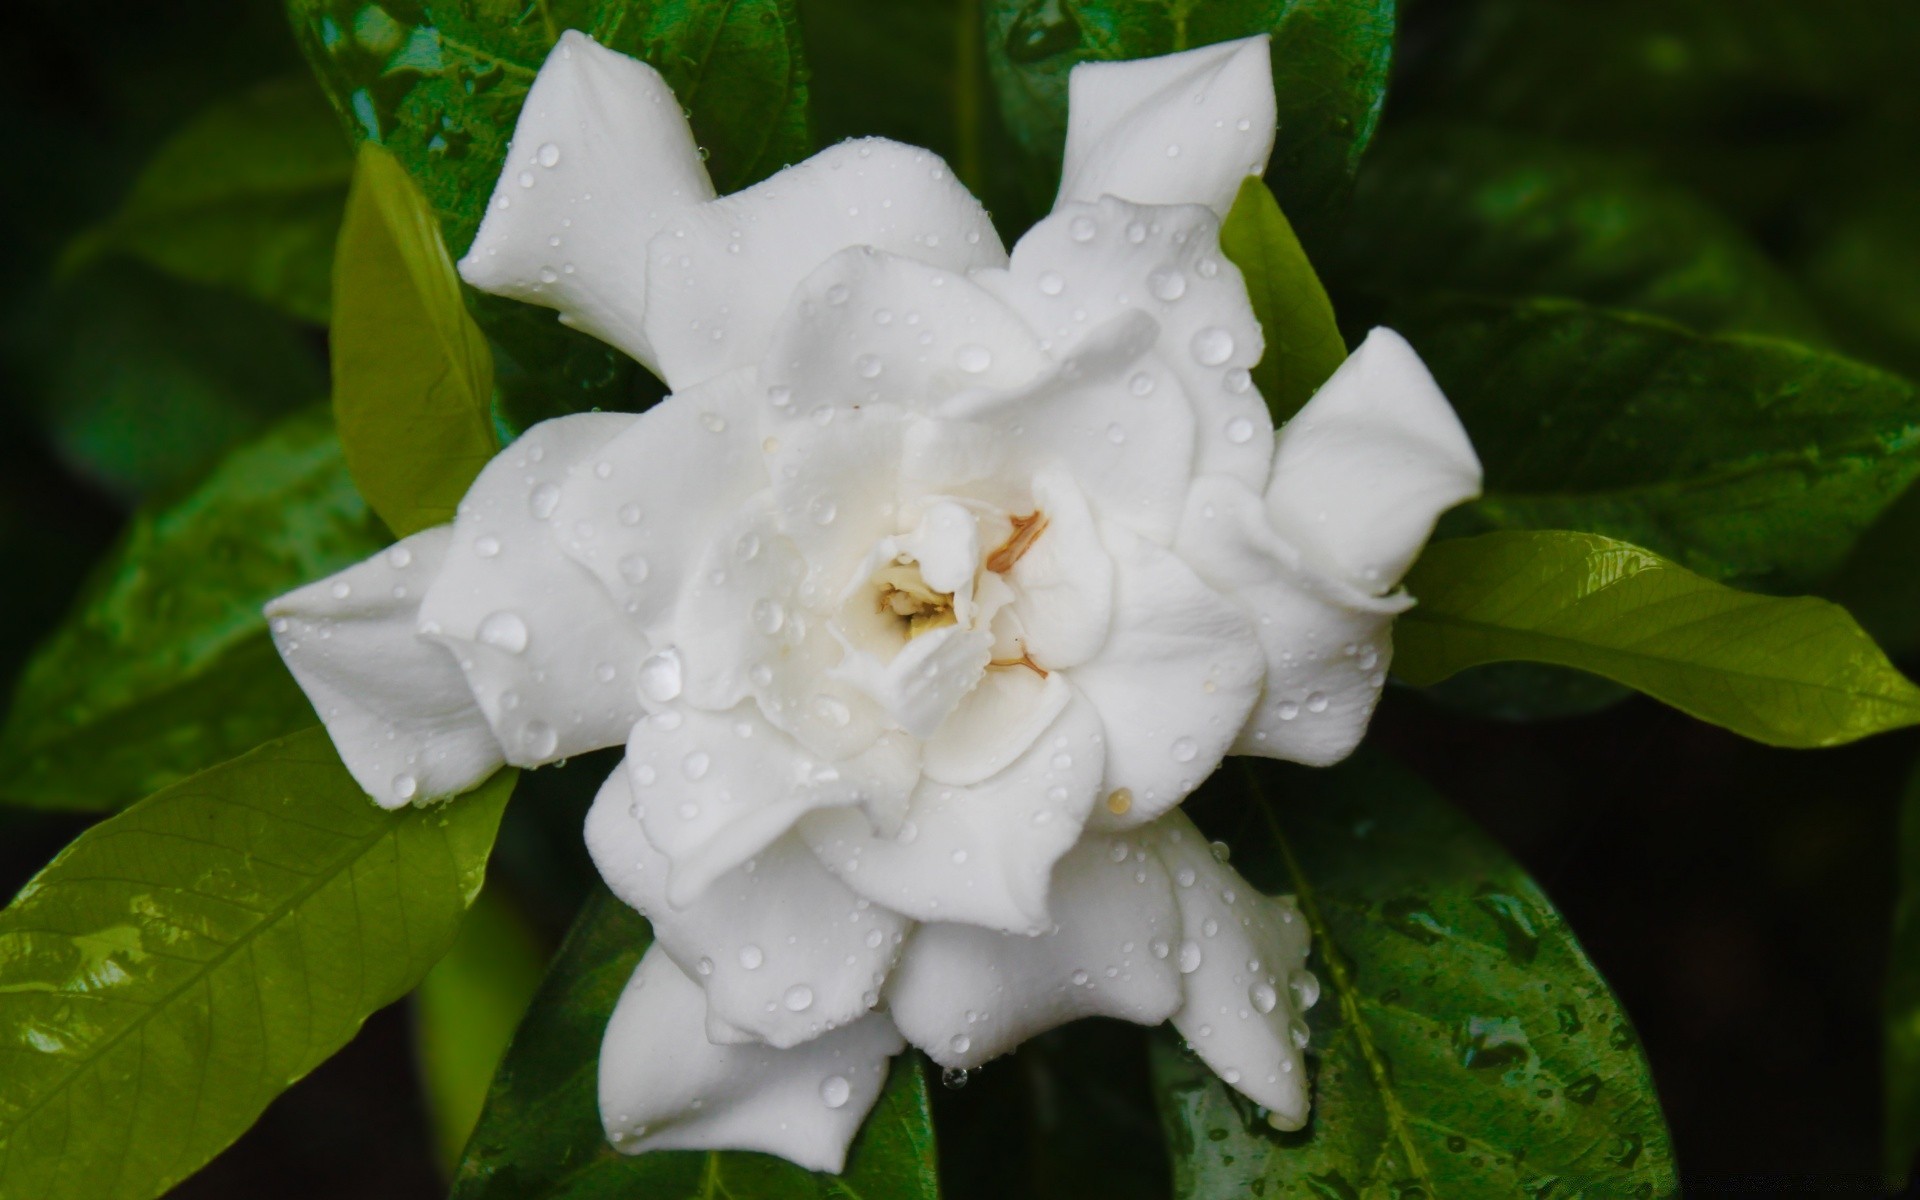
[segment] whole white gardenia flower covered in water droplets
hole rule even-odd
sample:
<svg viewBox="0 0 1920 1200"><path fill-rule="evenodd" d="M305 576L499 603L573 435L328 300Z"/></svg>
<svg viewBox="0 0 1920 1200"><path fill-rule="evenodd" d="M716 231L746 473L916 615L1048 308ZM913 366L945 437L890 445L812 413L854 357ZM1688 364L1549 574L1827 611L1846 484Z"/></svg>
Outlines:
<svg viewBox="0 0 1920 1200"><path fill-rule="evenodd" d="M1352 751L1480 468L1386 330L1275 436L1217 244L1273 129L1265 38L1081 65L1008 255L924 150L716 198L651 67L541 67L461 271L672 396L528 430L269 614L382 804L626 745L586 831L657 935L601 1056L622 1150L839 1169L902 1043L966 1069L1094 1014L1306 1119L1306 924L1177 804Z"/></svg>

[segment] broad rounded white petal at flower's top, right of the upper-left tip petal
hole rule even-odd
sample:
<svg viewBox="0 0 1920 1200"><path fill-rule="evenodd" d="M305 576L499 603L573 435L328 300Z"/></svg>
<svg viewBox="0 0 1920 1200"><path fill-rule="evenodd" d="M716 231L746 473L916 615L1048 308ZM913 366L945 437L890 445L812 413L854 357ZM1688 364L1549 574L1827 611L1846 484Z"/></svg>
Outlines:
<svg viewBox="0 0 1920 1200"><path fill-rule="evenodd" d="M758 363L795 286L849 246L948 271L1006 263L987 209L937 156L829 146L670 219L647 246L647 338L674 388Z"/></svg>

